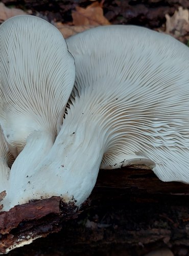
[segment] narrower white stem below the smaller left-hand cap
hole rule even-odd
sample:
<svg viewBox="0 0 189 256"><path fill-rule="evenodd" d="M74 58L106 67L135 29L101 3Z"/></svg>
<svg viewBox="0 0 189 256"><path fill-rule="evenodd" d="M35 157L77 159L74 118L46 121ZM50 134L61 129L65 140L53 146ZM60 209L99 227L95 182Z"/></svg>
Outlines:
<svg viewBox="0 0 189 256"><path fill-rule="evenodd" d="M51 133L34 131L30 134L25 148L11 167L7 196L3 201L3 210L9 210L17 204L33 199L34 188L31 188L31 194L27 194L25 184L29 187L32 186L30 179L35 173L35 167L49 153L53 143L54 135ZM41 181L38 180L37 182L40 184Z"/></svg>

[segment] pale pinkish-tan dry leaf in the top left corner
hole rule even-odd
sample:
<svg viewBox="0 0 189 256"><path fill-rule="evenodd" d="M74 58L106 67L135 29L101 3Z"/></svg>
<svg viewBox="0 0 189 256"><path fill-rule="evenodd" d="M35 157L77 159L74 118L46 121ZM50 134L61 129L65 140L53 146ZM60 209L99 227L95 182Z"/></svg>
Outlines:
<svg viewBox="0 0 189 256"><path fill-rule="evenodd" d="M3 3L0 3L0 23L13 16L23 14L27 13L17 8L7 8Z"/></svg>

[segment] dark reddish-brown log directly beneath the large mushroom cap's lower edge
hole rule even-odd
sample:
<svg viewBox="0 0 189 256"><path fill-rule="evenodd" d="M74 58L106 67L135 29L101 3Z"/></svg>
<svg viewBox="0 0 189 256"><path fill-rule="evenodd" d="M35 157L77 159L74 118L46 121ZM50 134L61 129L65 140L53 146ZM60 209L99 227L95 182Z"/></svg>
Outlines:
<svg viewBox="0 0 189 256"><path fill-rule="evenodd" d="M101 170L97 187L140 189L148 193L189 195L189 184L181 182L162 182L150 169L121 168Z"/></svg>

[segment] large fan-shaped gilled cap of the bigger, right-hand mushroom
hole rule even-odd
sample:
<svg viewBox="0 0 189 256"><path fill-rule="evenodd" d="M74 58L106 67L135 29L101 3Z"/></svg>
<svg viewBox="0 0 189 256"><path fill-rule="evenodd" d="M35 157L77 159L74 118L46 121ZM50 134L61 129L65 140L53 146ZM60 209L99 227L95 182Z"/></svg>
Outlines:
<svg viewBox="0 0 189 256"><path fill-rule="evenodd" d="M135 26L98 27L66 42L76 63L67 115L76 122L88 112L101 130L101 168L142 163L163 181L188 183L188 47Z"/></svg>

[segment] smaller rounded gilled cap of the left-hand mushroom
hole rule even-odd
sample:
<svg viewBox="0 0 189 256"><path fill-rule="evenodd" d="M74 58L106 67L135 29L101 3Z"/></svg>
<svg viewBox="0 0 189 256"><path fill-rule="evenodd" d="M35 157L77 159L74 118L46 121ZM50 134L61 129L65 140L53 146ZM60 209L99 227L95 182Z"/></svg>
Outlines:
<svg viewBox="0 0 189 256"><path fill-rule="evenodd" d="M1 25L0 122L18 152L34 130L57 134L74 79L74 58L53 25L29 15Z"/></svg>

